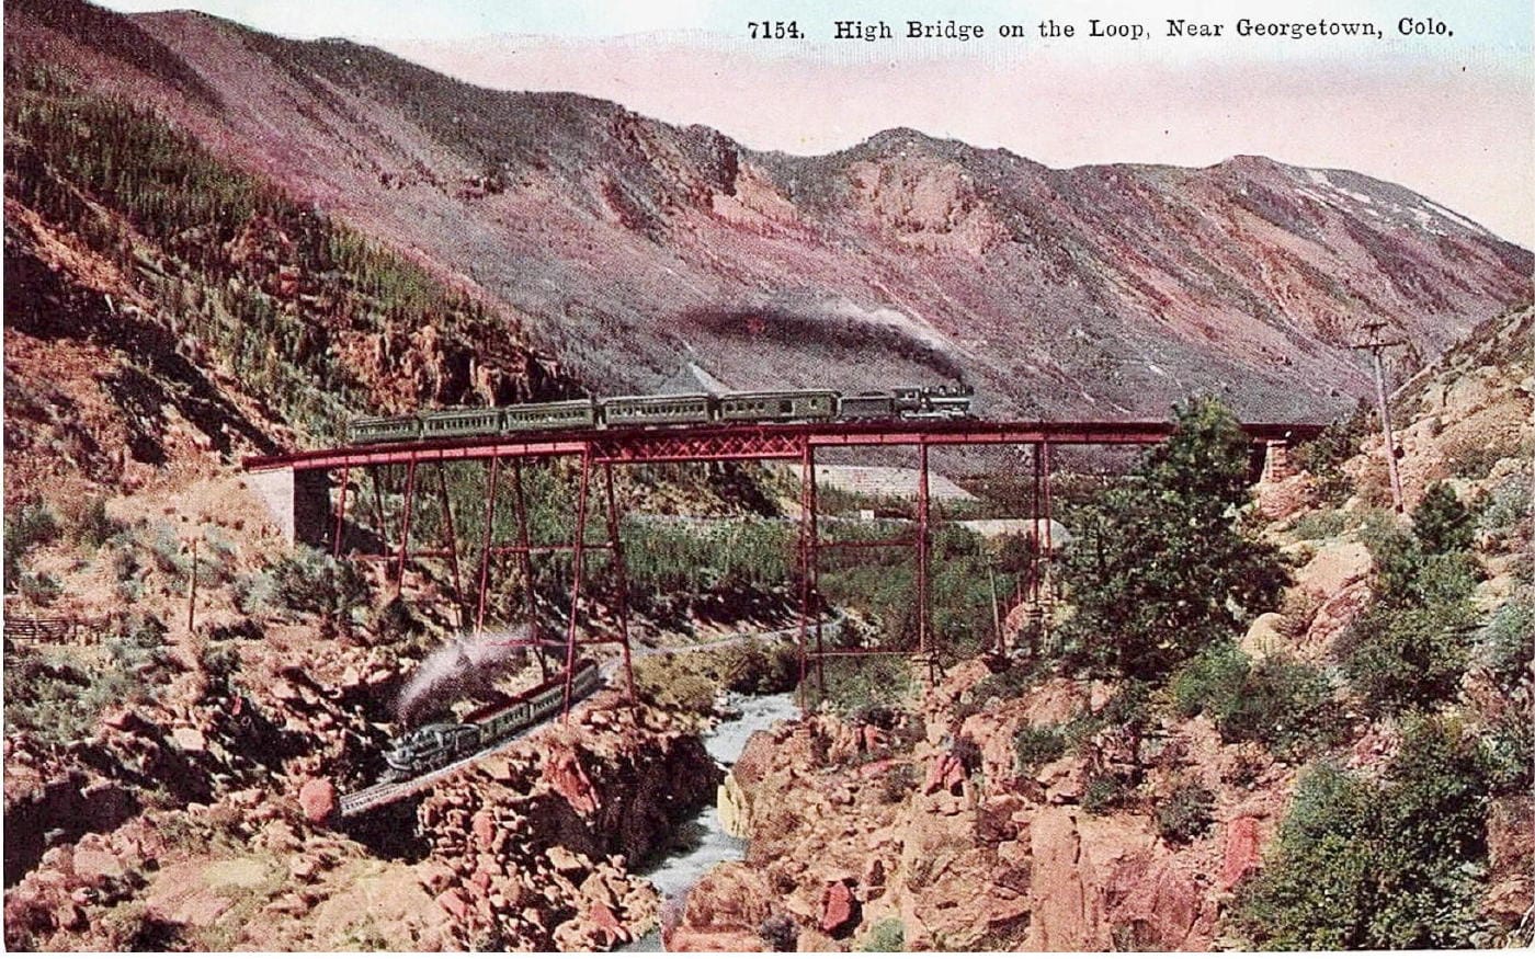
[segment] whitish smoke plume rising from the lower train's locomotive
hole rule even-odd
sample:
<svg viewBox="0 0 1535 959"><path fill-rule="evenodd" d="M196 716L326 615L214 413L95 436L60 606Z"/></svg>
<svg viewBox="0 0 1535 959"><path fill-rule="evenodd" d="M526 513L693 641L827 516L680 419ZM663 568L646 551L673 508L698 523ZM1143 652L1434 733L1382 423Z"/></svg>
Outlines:
<svg viewBox="0 0 1535 959"><path fill-rule="evenodd" d="M534 623L500 632L460 635L450 640L416 667L394 701L394 717L405 726L445 710L468 697L485 697L491 683L527 663L531 646L563 652L565 644L546 637Z"/></svg>

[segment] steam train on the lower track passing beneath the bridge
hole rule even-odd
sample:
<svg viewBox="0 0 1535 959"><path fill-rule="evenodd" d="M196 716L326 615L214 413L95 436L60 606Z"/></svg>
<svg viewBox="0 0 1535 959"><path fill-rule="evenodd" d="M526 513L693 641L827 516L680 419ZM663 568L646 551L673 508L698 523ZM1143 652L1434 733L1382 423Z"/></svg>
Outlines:
<svg viewBox="0 0 1535 959"><path fill-rule="evenodd" d="M571 680L571 701L585 700L602 686L593 661L580 663ZM414 779L471 756L546 720L565 704L563 677L536 686L511 704L477 709L459 723L430 723L390 740L384 749L385 783Z"/></svg>

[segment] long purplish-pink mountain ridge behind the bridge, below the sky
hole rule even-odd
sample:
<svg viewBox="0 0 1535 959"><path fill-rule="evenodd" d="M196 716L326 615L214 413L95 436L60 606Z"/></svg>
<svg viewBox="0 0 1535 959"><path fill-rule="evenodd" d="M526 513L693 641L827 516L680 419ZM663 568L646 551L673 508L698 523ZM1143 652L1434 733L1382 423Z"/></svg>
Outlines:
<svg viewBox="0 0 1535 959"><path fill-rule="evenodd" d="M1360 322L1426 359L1532 295L1527 250L1348 170L1053 170L906 129L791 157L350 41L5 9L8 69L152 104L597 391L695 362L738 388L964 379L996 416L1159 417L1203 390L1251 419L1326 419L1368 388Z"/></svg>

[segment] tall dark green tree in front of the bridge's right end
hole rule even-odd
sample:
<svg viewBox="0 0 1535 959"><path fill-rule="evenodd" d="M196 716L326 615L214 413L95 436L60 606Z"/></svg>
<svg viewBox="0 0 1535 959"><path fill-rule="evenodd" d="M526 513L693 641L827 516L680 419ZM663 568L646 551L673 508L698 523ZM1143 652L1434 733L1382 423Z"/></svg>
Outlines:
<svg viewBox="0 0 1535 959"><path fill-rule="evenodd" d="M1079 520L1064 580L1067 643L1119 675L1159 678L1273 609L1288 582L1279 551L1242 525L1249 442L1219 400L1176 410L1176 431L1139 476Z"/></svg>

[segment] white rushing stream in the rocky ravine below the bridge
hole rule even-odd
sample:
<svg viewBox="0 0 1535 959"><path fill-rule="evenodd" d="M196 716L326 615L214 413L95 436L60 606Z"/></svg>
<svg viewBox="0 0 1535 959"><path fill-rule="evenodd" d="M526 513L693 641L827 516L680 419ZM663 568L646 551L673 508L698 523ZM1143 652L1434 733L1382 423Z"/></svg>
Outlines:
<svg viewBox="0 0 1535 959"><path fill-rule="evenodd" d="M740 709L741 717L720 723L703 738L709 755L726 769L740 758L746 740L754 732L798 715L794 694L789 692L771 697L731 697L731 706ZM677 832L674 850L642 875L662 890L663 898L672 899L692 888L692 884L715 862L740 859L744 852L743 839L720 829L720 818L711 804ZM662 938L655 930L619 951L652 953L660 948Z"/></svg>

